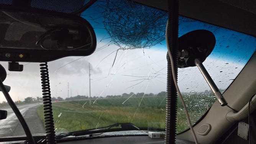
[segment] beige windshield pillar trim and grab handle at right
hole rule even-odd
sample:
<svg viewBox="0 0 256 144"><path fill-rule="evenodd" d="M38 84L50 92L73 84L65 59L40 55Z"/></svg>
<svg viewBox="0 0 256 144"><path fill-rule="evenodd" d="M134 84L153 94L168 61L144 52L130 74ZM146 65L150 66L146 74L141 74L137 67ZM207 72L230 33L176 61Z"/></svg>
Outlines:
<svg viewBox="0 0 256 144"><path fill-rule="evenodd" d="M240 74L231 83L230 87L223 93L228 105L237 111L243 109L249 99L256 93L256 52L245 65ZM220 106L218 101L213 103L207 115L194 126L194 130L198 129L203 124L210 124L210 132L202 136L196 133L200 144L214 144L228 129L235 124L235 121L229 121L226 115L232 112L227 106ZM242 110L243 111L243 110ZM179 139L194 141L191 131L186 131L177 135Z"/></svg>

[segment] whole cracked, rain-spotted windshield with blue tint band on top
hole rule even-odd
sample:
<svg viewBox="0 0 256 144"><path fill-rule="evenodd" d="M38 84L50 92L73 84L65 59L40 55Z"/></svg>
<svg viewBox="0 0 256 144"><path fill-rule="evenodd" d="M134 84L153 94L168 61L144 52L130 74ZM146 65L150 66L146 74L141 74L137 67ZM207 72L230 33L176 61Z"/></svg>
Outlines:
<svg viewBox="0 0 256 144"><path fill-rule="evenodd" d="M164 131L166 11L126 0L102 0L81 17L95 30L95 52L48 62L57 135L120 128L113 125L116 123L131 123L133 130ZM203 64L221 92L225 92L255 51L256 39L179 16L179 37L196 29L209 30L216 37L215 48ZM20 62L24 65L22 72L10 72L7 62L1 64L7 69L4 84L11 87L11 98L31 133L45 135L39 63ZM178 84L194 124L207 113L215 97L197 67L178 69ZM2 93L0 110L8 111L7 119L0 120L0 137L25 136ZM178 100L177 133L188 128Z"/></svg>

